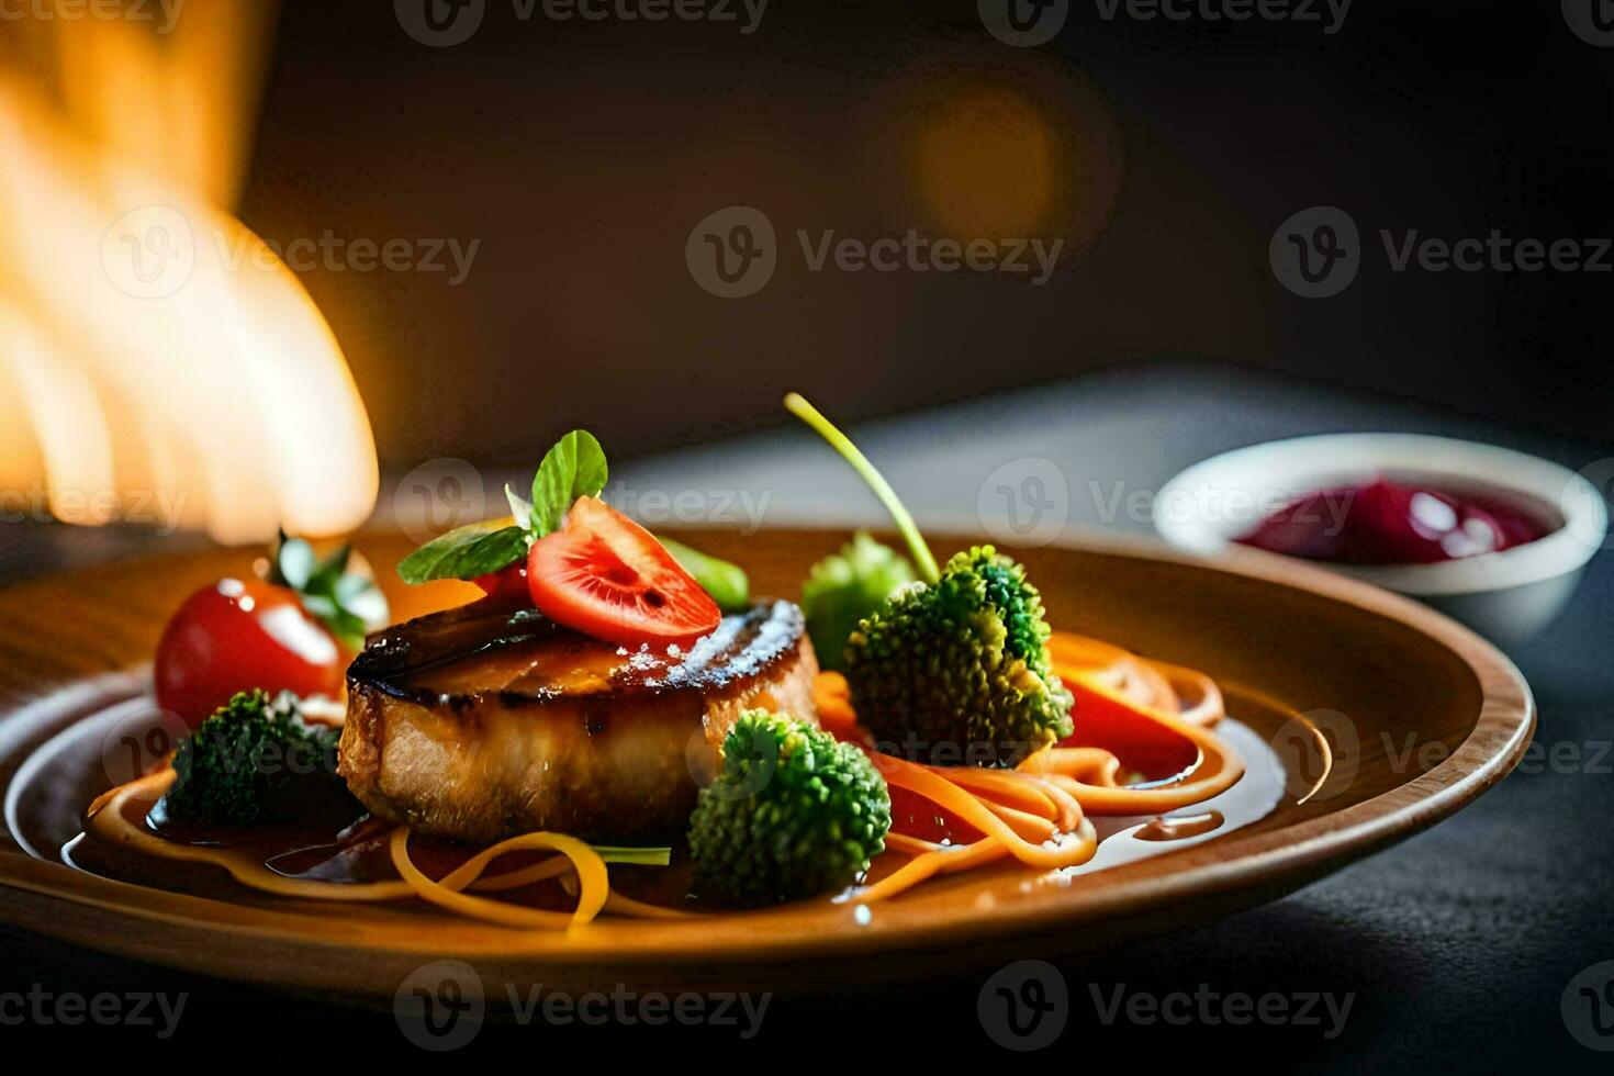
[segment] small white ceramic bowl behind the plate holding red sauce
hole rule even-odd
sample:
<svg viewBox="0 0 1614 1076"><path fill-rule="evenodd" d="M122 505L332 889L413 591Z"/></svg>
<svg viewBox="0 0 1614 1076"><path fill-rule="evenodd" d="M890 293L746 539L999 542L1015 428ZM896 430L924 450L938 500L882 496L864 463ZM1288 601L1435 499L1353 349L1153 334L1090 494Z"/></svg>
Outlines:
<svg viewBox="0 0 1614 1076"><path fill-rule="evenodd" d="M1545 628L1608 537L1608 505L1583 476L1522 452L1419 434L1296 437L1212 457L1160 489L1154 526L1178 548L1215 555L1301 494L1380 474L1486 494L1558 524L1535 542L1438 565L1323 565L1417 597L1501 644Z"/></svg>

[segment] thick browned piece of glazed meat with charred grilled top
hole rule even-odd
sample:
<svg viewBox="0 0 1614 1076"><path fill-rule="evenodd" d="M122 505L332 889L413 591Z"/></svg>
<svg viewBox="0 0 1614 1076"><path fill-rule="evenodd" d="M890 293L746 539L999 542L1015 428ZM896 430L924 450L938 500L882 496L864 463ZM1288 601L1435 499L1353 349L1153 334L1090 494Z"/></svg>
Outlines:
<svg viewBox="0 0 1614 1076"><path fill-rule="evenodd" d="M349 669L339 773L374 815L478 844L667 837L742 710L817 721L818 661L789 602L725 618L688 655L483 605L392 628Z"/></svg>

